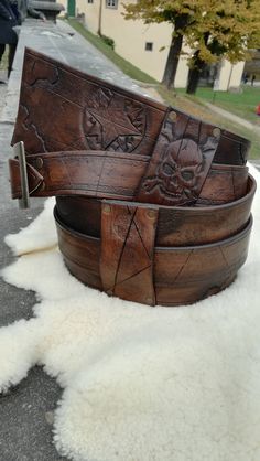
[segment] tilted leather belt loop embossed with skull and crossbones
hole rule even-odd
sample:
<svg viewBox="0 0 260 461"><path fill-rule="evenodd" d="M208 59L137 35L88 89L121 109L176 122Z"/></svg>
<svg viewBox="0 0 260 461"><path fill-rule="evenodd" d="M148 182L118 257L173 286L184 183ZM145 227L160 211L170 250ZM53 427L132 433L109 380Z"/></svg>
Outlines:
<svg viewBox="0 0 260 461"><path fill-rule="evenodd" d="M219 138L217 128L170 110L136 199L164 205L194 204Z"/></svg>

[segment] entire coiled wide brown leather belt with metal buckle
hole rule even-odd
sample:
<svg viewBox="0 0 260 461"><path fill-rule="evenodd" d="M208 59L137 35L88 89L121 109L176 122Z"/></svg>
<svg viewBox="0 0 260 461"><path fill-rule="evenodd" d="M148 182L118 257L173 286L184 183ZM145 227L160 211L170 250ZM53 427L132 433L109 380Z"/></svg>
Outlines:
<svg viewBox="0 0 260 461"><path fill-rule="evenodd" d="M26 50L19 141L26 172L10 160L12 197L57 197L59 248L85 283L177 305L220 291L245 262L246 139Z"/></svg>

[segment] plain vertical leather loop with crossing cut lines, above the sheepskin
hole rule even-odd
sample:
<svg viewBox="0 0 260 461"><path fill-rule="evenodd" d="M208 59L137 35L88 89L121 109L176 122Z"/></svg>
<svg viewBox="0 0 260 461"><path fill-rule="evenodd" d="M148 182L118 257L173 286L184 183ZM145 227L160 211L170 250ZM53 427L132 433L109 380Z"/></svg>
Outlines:
<svg viewBox="0 0 260 461"><path fill-rule="evenodd" d="M158 208L105 201L100 277L108 294L155 304L153 250Z"/></svg>

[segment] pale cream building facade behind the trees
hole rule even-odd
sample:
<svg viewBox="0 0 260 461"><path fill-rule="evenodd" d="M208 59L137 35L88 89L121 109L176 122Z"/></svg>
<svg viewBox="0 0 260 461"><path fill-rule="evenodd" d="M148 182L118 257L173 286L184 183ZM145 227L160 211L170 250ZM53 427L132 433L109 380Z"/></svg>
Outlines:
<svg viewBox="0 0 260 461"><path fill-rule="evenodd" d="M90 32L112 39L116 53L161 82L173 28L170 23L144 24L141 20L126 20L123 3L128 4L133 1L76 0L76 14L84 18L84 24ZM188 54L191 50L184 47L174 82L175 88L186 87ZM215 89L238 88L242 72L243 63L232 65L224 60L219 65Z"/></svg>

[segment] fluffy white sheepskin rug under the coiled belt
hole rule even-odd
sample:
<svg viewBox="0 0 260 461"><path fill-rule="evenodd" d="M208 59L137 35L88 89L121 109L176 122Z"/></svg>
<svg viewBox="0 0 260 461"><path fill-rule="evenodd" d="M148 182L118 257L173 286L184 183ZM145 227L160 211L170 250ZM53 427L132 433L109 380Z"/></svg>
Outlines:
<svg viewBox="0 0 260 461"><path fill-rule="evenodd" d="M53 204L7 237L20 257L2 276L40 303L34 318L0 330L1 390L44 365L64 388L55 444L76 461L259 461L260 189L236 282L175 309L108 298L73 278Z"/></svg>

